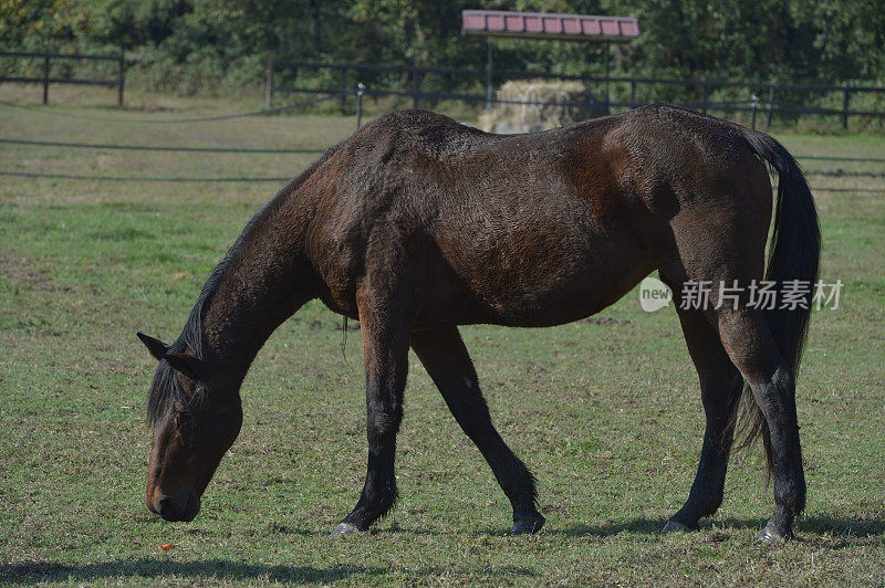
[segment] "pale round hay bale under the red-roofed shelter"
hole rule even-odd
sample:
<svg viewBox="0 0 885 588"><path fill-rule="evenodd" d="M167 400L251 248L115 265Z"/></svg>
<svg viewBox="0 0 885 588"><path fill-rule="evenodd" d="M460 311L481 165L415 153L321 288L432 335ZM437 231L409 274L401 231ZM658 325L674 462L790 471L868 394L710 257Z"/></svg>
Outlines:
<svg viewBox="0 0 885 588"><path fill-rule="evenodd" d="M498 90L497 97L508 102L493 104L479 117L479 126L490 133L544 130L602 114L598 101L576 81L511 80Z"/></svg>

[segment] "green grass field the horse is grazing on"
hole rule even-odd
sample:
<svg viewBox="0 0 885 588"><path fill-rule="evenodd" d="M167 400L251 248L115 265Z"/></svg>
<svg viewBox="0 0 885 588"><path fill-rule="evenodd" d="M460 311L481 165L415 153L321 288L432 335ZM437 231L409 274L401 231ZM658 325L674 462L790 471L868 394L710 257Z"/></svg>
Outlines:
<svg viewBox="0 0 885 588"><path fill-rule="evenodd" d="M324 148L346 117L168 125L186 113L0 107L0 138ZM119 122L122 120L122 122ZM885 158L875 136L779 136L793 153ZM107 176L285 177L315 155L0 144L0 169ZM242 391L246 421L201 514L147 512L144 405L155 361L209 270L279 182L0 176L0 584L857 584L885 578L885 165L804 161L816 176L822 277L840 308L812 319L799 386L808 510L796 540L754 543L771 513L761 459L732 459L726 502L694 534L657 532L700 451L696 375L671 309L636 292L549 329L462 329L502 437L548 517L511 538L510 506L412 357L400 501L369 534L332 539L364 474L358 332L311 303L271 337ZM159 544L174 548L159 552Z"/></svg>

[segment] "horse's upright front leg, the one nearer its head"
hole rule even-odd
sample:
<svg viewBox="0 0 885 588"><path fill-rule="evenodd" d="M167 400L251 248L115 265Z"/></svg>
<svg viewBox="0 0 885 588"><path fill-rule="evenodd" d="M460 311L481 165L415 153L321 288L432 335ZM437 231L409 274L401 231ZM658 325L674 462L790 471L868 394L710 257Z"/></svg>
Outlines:
<svg viewBox="0 0 885 588"><path fill-rule="evenodd" d="M367 531L396 501L396 433L403 420L403 390L408 372L408 329L398 305L369 296L357 300L366 370L368 465L360 501L333 535Z"/></svg>

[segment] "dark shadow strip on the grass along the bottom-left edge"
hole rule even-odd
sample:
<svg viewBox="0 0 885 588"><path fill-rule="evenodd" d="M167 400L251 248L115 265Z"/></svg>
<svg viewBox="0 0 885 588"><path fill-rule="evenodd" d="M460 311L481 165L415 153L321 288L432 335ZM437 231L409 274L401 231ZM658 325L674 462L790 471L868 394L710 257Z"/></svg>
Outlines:
<svg viewBox="0 0 885 588"><path fill-rule="evenodd" d="M408 570L416 577L440 576L451 570L441 567L426 567ZM488 570L492 575L503 577L532 576L531 569L503 566ZM308 566L267 566L229 561L226 559L206 559L200 561L169 561L157 558L119 559L115 561L69 566L52 561L0 565L0 584L32 585L37 582L82 582L111 580L112 578L158 578L179 577L200 581L250 581L273 584L332 584L351 576L364 576L365 581L383 574L389 568L366 566L341 566L332 568L313 568ZM377 580L375 580L377 581Z"/></svg>

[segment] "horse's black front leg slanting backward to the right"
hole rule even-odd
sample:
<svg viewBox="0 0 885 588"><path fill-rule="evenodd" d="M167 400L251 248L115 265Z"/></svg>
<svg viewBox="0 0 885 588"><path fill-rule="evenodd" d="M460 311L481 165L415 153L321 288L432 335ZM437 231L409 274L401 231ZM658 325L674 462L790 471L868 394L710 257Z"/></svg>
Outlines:
<svg viewBox="0 0 885 588"><path fill-rule="evenodd" d="M479 389L467 348L454 326L412 334L412 348L513 506L512 534L534 533L544 524L535 506L534 477L498 434Z"/></svg>

